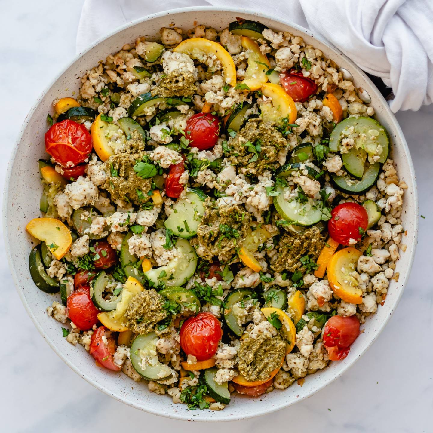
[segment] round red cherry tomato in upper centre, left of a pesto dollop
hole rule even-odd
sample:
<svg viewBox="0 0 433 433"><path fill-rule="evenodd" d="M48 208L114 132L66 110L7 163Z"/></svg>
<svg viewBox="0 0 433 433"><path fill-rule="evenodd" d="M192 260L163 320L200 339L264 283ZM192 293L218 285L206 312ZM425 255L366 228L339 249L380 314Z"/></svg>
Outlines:
<svg viewBox="0 0 433 433"><path fill-rule="evenodd" d="M187 120L185 129L190 147L199 150L210 149L218 141L220 119L210 113L197 113Z"/></svg>

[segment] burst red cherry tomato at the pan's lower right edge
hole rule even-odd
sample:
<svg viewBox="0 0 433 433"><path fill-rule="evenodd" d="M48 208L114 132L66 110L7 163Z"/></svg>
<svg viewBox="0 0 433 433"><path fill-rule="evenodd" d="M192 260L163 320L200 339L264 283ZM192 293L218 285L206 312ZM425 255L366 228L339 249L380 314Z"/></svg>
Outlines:
<svg viewBox="0 0 433 433"><path fill-rule="evenodd" d="M333 316L323 329L323 345L331 361L346 358L350 346L359 336L359 319L356 316Z"/></svg>

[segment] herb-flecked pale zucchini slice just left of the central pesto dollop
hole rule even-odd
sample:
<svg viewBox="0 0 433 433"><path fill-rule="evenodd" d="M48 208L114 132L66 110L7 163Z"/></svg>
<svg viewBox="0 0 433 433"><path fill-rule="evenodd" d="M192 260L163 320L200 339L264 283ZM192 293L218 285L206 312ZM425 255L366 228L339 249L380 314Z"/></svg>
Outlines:
<svg viewBox="0 0 433 433"><path fill-rule="evenodd" d="M200 191L200 190L199 190ZM201 194L204 194L200 191ZM191 238L197 234L200 220L204 215L203 199L194 191L173 205L173 212L165 220L165 228L171 229L175 236Z"/></svg>

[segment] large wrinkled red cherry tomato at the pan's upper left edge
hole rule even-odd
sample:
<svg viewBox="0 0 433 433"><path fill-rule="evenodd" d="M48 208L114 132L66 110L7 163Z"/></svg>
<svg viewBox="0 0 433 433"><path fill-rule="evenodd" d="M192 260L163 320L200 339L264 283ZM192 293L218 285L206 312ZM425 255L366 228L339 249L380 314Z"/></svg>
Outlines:
<svg viewBox="0 0 433 433"><path fill-rule="evenodd" d="M83 162L92 150L92 138L84 125L63 120L45 132L45 150L62 167Z"/></svg>

